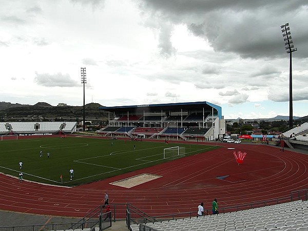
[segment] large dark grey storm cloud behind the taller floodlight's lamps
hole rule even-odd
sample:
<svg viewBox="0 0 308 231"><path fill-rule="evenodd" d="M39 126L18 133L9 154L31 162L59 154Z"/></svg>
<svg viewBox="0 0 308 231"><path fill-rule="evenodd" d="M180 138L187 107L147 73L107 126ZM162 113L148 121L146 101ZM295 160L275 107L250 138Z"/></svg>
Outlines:
<svg viewBox="0 0 308 231"><path fill-rule="evenodd" d="M244 58L283 57L280 25L291 21L298 57L308 57L308 36L303 18L304 0L140 0L140 8L163 22L185 24L195 36L208 41L215 51L237 53ZM163 33L163 31L161 31ZM167 32L166 37L169 36ZM167 39L165 38L165 41Z"/></svg>

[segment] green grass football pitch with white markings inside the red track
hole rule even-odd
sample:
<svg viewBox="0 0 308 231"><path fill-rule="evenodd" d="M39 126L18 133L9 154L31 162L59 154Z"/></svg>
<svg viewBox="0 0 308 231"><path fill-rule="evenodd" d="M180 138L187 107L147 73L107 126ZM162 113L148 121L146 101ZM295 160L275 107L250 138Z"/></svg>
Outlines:
<svg viewBox="0 0 308 231"><path fill-rule="evenodd" d="M3 140L0 141L0 172L15 177L23 172L26 180L54 185L80 185L183 157L164 158L164 148L175 146L183 147L186 156L219 148L86 137ZM22 169L19 162L23 162ZM74 170L72 180L71 168Z"/></svg>

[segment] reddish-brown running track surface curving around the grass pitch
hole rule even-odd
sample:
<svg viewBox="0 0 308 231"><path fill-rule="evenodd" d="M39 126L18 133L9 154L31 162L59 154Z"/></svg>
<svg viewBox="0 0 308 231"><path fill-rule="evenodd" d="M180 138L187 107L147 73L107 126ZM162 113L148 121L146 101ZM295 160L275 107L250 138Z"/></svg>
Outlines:
<svg viewBox="0 0 308 231"><path fill-rule="evenodd" d="M0 209L84 217L103 204L107 191L110 204L130 203L158 216L196 212L201 202L210 209L214 198L221 208L290 197L291 191L308 188L307 155L261 144L219 145L223 147L72 188L18 183L0 174ZM242 165L234 151L247 153ZM141 174L160 177L131 188L110 184ZM117 218L124 216L125 206L118 206Z"/></svg>

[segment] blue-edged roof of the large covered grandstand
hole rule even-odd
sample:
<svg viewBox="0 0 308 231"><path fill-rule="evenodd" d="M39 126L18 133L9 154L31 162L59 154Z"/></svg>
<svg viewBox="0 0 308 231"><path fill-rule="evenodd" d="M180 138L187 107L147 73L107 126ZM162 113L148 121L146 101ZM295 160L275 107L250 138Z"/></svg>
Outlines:
<svg viewBox="0 0 308 231"><path fill-rule="evenodd" d="M153 111L166 111L166 110L194 110L194 109L216 109L219 119L222 118L222 111L221 107L215 104L208 103L206 101L203 102L186 102L186 103L169 103L169 104L143 104L143 105L131 105L131 106L114 106L114 107L99 107L99 109L115 112L115 113L136 113L142 114L143 111L145 112L153 112ZM215 112L216 112L215 111Z"/></svg>

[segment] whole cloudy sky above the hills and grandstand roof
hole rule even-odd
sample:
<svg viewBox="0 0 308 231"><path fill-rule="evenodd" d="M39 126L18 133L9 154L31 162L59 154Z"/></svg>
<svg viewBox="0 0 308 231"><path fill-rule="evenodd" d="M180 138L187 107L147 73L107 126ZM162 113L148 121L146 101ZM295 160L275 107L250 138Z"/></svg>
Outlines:
<svg viewBox="0 0 308 231"><path fill-rule="evenodd" d="M0 0L0 101L207 101L226 119L308 115L306 0Z"/></svg>

